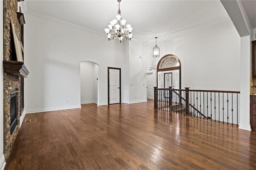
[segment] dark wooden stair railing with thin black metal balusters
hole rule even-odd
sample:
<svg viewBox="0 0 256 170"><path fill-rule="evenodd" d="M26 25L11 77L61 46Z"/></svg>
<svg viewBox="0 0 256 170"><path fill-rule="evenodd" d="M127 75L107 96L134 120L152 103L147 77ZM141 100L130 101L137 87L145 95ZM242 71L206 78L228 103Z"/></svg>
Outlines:
<svg viewBox="0 0 256 170"><path fill-rule="evenodd" d="M190 90L154 87L154 109L183 113L238 125L239 91ZM231 120L230 120L231 119Z"/></svg>

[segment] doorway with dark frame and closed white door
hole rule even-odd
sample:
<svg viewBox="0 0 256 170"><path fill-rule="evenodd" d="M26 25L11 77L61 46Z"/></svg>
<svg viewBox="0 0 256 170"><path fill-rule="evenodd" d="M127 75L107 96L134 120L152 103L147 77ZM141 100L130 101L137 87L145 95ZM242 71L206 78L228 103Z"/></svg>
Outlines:
<svg viewBox="0 0 256 170"><path fill-rule="evenodd" d="M108 67L108 104L121 103L121 68Z"/></svg>

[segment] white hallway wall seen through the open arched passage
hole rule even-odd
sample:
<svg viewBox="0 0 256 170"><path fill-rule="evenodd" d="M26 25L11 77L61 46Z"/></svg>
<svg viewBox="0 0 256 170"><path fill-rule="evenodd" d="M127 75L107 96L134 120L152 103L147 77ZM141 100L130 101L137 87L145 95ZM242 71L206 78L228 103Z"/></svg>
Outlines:
<svg viewBox="0 0 256 170"><path fill-rule="evenodd" d="M98 104L98 65L92 62L80 63L81 104Z"/></svg>

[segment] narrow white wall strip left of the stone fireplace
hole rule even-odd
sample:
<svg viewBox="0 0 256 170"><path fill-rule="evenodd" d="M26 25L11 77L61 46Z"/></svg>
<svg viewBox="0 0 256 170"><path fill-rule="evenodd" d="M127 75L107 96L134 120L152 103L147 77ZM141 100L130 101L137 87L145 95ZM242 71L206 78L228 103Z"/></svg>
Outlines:
<svg viewBox="0 0 256 170"><path fill-rule="evenodd" d="M0 14L3 14L3 1L0 0ZM3 17L0 17L0 35L3 35ZM0 102L0 169L4 169L4 165L5 165L5 162L4 162L4 108L3 108L3 102L2 102L2 99L4 99L4 96L3 96L3 89L4 89L4 86L3 86L3 81L4 81L4 76L3 76L3 72L4 72L4 69L3 69L3 51L4 51L4 45L3 45L3 37L0 36L0 99L1 99L1 102Z"/></svg>

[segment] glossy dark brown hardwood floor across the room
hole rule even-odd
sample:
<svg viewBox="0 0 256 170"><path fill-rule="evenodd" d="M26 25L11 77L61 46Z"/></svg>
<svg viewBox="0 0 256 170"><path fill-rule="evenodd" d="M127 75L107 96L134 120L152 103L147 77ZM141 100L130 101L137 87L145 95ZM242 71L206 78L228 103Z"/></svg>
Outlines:
<svg viewBox="0 0 256 170"><path fill-rule="evenodd" d="M256 169L255 131L153 107L27 114L5 169Z"/></svg>

